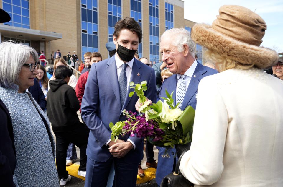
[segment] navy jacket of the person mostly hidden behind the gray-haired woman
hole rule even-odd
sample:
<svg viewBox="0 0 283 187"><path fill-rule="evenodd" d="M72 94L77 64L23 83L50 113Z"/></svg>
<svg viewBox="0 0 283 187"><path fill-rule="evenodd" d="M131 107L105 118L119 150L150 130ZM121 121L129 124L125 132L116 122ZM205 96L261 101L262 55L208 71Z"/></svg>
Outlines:
<svg viewBox="0 0 283 187"><path fill-rule="evenodd" d="M47 101L45 100L44 93L42 92L36 78L34 78L34 85L29 87L29 92L32 94L32 97L40 106L40 108L42 110L45 110Z"/></svg>

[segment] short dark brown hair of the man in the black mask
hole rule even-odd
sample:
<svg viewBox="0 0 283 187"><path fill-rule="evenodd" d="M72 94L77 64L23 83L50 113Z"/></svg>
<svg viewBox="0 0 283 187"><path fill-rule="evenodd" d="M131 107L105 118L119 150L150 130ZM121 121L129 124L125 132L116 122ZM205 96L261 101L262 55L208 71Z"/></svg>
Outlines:
<svg viewBox="0 0 283 187"><path fill-rule="evenodd" d="M118 38L122 29L129 29L133 33L136 32L136 34L139 37L139 43L141 43L141 39L142 39L141 26L139 25L138 22L136 22L136 20L134 20L134 18L126 17L125 19L120 19L115 24L115 31L113 33L113 36L115 35L115 37Z"/></svg>

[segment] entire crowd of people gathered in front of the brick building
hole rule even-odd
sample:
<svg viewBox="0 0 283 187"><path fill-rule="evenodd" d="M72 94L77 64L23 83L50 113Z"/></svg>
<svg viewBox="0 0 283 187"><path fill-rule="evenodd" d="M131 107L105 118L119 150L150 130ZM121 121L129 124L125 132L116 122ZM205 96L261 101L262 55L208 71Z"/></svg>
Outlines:
<svg viewBox="0 0 283 187"><path fill-rule="evenodd" d="M156 163L153 145L145 142L146 166L156 168L158 186L168 186L179 159L182 184L283 186L283 53L259 47L265 30L256 13L224 5L212 25L165 31L162 59L151 63L136 53L140 25L126 17L106 43L110 58L87 52L83 63L74 51L65 61L57 50L51 74L37 63L46 59L43 51L0 43L1 184L66 185L77 146L86 187L136 186L137 175L145 175L144 138L126 134L114 141L109 123L125 121L124 109L139 110L143 103L128 97L129 83L147 81L149 103L167 91L181 110L195 109L190 144L157 147ZM195 42L207 48L208 63L198 63ZM73 69L81 71L78 79Z"/></svg>

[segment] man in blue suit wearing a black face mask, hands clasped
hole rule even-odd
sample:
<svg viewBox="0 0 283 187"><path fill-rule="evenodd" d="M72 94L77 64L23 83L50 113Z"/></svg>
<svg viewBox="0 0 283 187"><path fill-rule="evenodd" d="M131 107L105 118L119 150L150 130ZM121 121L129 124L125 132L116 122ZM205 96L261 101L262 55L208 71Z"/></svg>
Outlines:
<svg viewBox="0 0 283 187"><path fill-rule="evenodd" d="M143 158L143 139L124 136L111 141L109 123L125 121L124 109L137 112L136 94L129 97L129 82L147 81L147 98L155 102L154 70L134 58L142 39L139 24L126 17L115 25L113 42L117 53L91 66L82 100L82 117L91 130L87 147L85 186L106 186L111 165L115 167L116 187L136 186L137 168Z"/></svg>

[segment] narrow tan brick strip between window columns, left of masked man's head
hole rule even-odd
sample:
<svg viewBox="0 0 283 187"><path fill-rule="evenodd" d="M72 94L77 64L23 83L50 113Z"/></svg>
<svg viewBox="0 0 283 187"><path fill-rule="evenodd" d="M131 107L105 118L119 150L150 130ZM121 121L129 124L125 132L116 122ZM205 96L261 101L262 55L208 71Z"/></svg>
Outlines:
<svg viewBox="0 0 283 187"><path fill-rule="evenodd" d="M108 1L98 2L98 40L99 53L103 59L108 58L108 51L105 44L108 42Z"/></svg>

